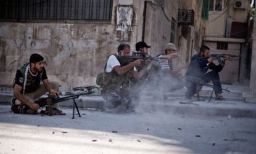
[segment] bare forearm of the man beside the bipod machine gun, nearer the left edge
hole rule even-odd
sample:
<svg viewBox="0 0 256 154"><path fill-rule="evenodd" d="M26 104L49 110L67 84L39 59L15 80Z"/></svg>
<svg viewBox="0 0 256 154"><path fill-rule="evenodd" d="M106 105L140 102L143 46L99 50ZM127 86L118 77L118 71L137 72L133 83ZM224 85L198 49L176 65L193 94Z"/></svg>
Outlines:
<svg viewBox="0 0 256 154"><path fill-rule="evenodd" d="M39 105L36 103L30 102L28 99L24 97L20 92L22 91L22 86L19 86L18 84L15 84L14 86L14 97L18 99L20 102L25 103L28 107L30 107L32 110L38 110Z"/></svg>

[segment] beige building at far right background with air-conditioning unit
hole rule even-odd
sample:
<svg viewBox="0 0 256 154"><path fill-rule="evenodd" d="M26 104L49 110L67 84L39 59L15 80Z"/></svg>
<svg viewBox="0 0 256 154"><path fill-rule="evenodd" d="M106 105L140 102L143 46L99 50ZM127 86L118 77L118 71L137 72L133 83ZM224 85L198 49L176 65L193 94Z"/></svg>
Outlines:
<svg viewBox="0 0 256 154"><path fill-rule="evenodd" d="M249 82L247 41L249 39L250 0L209 0L209 19L204 20L203 44L213 54L241 55L227 61L220 72L221 81L226 84Z"/></svg>

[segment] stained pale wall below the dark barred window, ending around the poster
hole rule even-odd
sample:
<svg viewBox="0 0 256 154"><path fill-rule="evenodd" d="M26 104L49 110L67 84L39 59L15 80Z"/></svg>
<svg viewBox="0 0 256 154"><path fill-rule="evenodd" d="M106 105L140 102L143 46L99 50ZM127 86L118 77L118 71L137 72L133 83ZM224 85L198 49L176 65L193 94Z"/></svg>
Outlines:
<svg viewBox="0 0 256 154"><path fill-rule="evenodd" d="M12 84L15 71L33 53L43 55L47 75L61 84L96 84L107 56L133 38L133 31L115 31L117 4L111 24L0 23L0 85Z"/></svg>

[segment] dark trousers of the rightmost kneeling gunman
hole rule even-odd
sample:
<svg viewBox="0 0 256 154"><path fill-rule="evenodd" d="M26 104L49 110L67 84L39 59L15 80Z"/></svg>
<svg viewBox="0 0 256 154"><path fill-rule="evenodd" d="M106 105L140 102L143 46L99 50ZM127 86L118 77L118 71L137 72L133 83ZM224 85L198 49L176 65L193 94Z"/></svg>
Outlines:
<svg viewBox="0 0 256 154"><path fill-rule="evenodd" d="M217 71L210 71L209 73L206 73L204 76L202 76L201 79L205 83L209 83L210 81L212 81L213 86L215 86L215 88L213 88L213 90L215 92L215 95L222 93L222 89L220 89L220 88L222 88L221 83L220 83L220 76L218 75ZM202 89L203 85L198 84L198 83L193 82L193 81L187 81L186 86L188 88L188 91L186 92L186 97L190 98L194 94L199 92ZM216 87L219 87L219 88L216 88Z"/></svg>

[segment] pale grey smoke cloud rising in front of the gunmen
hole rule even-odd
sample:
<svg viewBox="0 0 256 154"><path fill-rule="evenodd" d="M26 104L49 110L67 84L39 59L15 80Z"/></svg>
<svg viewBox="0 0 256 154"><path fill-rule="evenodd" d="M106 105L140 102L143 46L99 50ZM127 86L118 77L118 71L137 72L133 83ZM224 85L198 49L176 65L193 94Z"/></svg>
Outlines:
<svg viewBox="0 0 256 154"><path fill-rule="evenodd" d="M167 111L164 105L172 103L178 98L171 97L171 92L184 91L184 83L182 75L167 74L154 63L144 78L134 83L131 88L131 102L134 105L134 110L139 113ZM184 99L184 96L181 99Z"/></svg>

